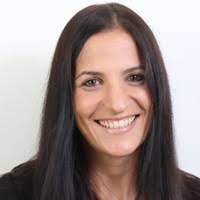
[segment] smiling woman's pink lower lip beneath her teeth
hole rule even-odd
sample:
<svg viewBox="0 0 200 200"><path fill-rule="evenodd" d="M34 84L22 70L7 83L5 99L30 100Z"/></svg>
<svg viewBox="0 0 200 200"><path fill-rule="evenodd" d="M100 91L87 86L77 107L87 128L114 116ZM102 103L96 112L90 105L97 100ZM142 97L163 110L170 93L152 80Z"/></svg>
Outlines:
<svg viewBox="0 0 200 200"><path fill-rule="evenodd" d="M101 126L100 124L98 124L97 122L95 122L95 123L97 123L101 128L103 128L106 132L108 132L110 134L125 134L134 128L138 117L139 116L136 115L136 118L133 120L133 122L128 127L125 127L125 128L112 128L111 129L111 128L105 128L105 127Z"/></svg>

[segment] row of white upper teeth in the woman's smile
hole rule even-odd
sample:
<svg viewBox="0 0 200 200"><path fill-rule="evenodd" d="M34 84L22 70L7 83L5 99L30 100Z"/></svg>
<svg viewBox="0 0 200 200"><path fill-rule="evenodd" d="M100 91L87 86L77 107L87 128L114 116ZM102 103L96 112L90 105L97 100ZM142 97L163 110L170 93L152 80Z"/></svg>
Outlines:
<svg viewBox="0 0 200 200"><path fill-rule="evenodd" d="M102 125L105 128L125 128L134 121L135 117L136 116L134 115L133 117L129 117L129 118L118 120L118 121L99 120L98 122L100 125Z"/></svg>

